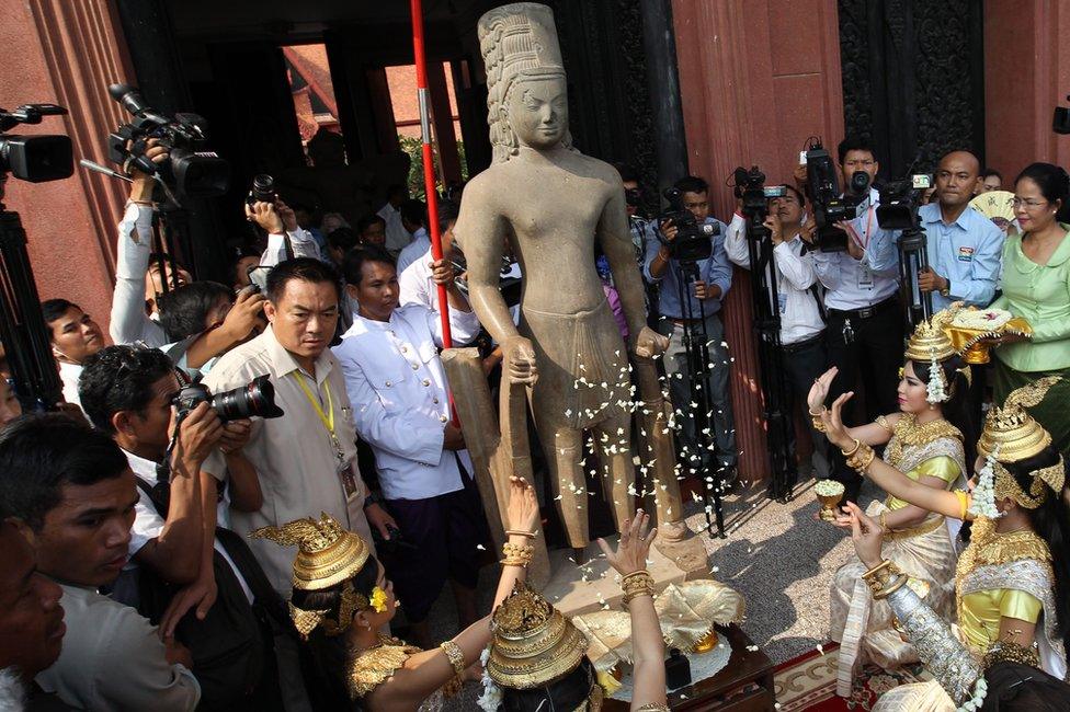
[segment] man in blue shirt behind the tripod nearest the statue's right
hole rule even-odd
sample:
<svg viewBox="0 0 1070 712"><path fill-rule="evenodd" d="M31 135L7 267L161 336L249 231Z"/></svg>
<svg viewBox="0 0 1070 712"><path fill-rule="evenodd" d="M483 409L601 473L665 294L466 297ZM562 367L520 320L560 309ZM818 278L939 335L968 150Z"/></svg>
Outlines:
<svg viewBox="0 0 1070 712"><path fill-rule="evenodd" d="M706 260L698 261L698 278L690 284L681 284L682 271L678 261L671 259L668 244L658 240L647 242L647 260L644 276L658 285L658 299L661 319L658 331L669 336L669 349L665 352L665 377L669 379L670 398L676 409L676 416L683 421L679 432L682 449L691 462L698 462L704 456L698 451L695 422L691 414L692 389L704 388L709 394L713 413L709 415L713 432L717 441L717 462L719 470L730 470L736 467L736 427L732 421L732 403L728 392L729 361L728 351L724 342L725 329L718 312L721 300L728 294L732 284L732 267L725 253L724 222L709 215L708 190L706 181L688 175L676 182L681 192L683 206L694 217L698 225L710 225L717 230L712 238L713 253ZM668 220L661 225L661 234L667 243L676 238L678 228ZM704 314L705 322L696 324L699 318L691 322L684 319L684 305L680 301L682 290L686 290L690 312ZM704 326L709 342L710 364L705 374L691 374L687 367L687 351L684 344L684 332L692 326Z"/></svg>

